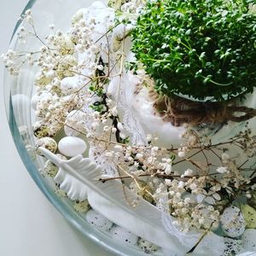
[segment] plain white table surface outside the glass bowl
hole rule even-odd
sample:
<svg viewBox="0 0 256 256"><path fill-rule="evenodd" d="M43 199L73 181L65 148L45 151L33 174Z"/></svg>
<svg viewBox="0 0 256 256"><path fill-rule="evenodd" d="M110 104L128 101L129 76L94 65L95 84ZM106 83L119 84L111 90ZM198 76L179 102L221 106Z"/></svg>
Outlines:
<svg viewBox="0 0 256 256"><path fill-rule="evenodd" d="M0 1L0 55L28 0ZM26 172L9 132L3 106L3 65L0 66L0 255L111 256L74 230L55 210Z"/></svg>

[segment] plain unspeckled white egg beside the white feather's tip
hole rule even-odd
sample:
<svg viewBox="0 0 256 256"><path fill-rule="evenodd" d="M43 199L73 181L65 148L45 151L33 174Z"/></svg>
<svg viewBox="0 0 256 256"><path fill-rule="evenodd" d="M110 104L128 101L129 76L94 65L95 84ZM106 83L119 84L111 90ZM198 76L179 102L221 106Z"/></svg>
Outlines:
<svg viewBox="0 0 256 256"><path fill-rule="evenodd" d="M58 145L61 154L69 157L83 154L87 148L86 143L79 137L63 137Z"/></svg>

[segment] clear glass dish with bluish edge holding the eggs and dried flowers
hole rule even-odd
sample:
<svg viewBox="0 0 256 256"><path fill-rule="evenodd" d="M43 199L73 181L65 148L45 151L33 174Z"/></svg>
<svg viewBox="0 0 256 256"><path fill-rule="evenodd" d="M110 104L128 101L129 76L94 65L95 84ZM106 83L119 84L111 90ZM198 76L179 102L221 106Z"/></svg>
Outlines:
<svg viewBox="0 0 256 256"><path fill-rule="evenodd" d="M79 9L86 8L93 2L91 0L31 0L27 3L22 14L25 14L27 9L32 9L35 27L38 27L38 36L44 38L49 33L49 24L55 24L59 29L66 31L70 26L70 20L73 15ZM17 31L20 26L21 21L18 21L11 38L10 48L20 51L37 49L40 45L37 40L27 40L23 46L17 44ZM51 180L42 177L39 171L43 168L44 162L39 160L32 150L32 147L35 145L35 137L32 132L34 113L31 108L30 99L33 94L33 80L36 73L36 68L24 65L18 77L9 75L7 71L5 71L4 75L5 106L9 127L27 171L55 208L67 218L69 223L80 230L84 236L89 237L99 246L117 255L146 255L137 248L127 247L114 241L102 231L96 230L86 222L83 214L74 210L72 201L55 194L55 184Z"/></svg>

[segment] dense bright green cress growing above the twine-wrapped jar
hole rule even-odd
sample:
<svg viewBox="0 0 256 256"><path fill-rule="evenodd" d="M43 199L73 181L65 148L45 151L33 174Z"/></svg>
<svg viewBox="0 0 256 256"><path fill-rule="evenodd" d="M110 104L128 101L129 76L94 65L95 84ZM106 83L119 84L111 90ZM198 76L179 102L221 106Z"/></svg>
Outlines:
<svg viewBox="0 0 256 256"><path fill-rule="evenodd" d="M164 95L229 101L256 85L254 0L149 1L131 34Z"/></svg>

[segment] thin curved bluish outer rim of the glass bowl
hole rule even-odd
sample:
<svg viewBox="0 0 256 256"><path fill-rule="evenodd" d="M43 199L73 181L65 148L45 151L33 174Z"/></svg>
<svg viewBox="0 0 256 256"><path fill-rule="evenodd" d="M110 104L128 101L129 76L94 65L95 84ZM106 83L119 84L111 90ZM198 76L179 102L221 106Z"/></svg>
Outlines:
<svg viewBox="0 0 256 256"><path fill-rule="evenodd" d="M26 4L25 9L22 11L21 15L26 13L27 9L32 9L34 3L37 0L29 0ZM12 37L10 39L9 46L15 44L15 33L17 32L22 20L18 20L14 32L12 33ZM6 70L4 70L3 80L6 80L8 76ZM4 82L5 84L5 82ZM11 131L13 140L15 142L15 146L17 148L18 153L20 154L20 158L23 164L26 166L27 172L29 172L30 176L32 177L33 181L38 185L38 188L43 192L49 202L59 211L61 212L62 216L67 219L68 223L72 224L77 230L79 230L84 236L89 238L91 241L95 242L97 245L102 247L103 249L107 250L114 255L121 255L121 256L130 256L130 255L137 255L143 256L147 255L143 252L139 252L135 248L132 247L125 247L121 243L115 242L110 236L104 235L101 231L94 229L90 224L87 224L83 218L79 215L74 215L74 212L70 212L70 210L65 206L61 201L60 198L55 195L55 192L50 189L47 183L44 183L40 173L38 172L38 168L32 162L29 154L26 151L26 147L22 142L20 131L16 124L15 115L13 111L13 104L12 104L12 94L11 91L7 90L6 86L3 86L4 95L5 95L5 111L7 115L7 119L9 121L9 129Z"/></svg>

